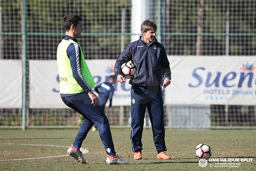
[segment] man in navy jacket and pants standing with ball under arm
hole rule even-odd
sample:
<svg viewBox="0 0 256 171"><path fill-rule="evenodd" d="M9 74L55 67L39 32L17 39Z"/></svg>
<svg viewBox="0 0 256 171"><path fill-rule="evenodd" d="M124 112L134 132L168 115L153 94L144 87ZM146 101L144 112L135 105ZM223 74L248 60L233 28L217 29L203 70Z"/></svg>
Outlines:
<svg viewBox="0 0 256 171"><path fill-rule="evenodd" d="M134 159L142 159L142 131L146 109L151 122L157 159L171 159L165 154L164 106L161 85L171 83L170 64L164 46L156 40L157 26L150 20L141 24L140 39L128 44L116 59L115 76L125 82L121 66L133 61L136 73L130 79L131 89L131 143Z"/></svg>

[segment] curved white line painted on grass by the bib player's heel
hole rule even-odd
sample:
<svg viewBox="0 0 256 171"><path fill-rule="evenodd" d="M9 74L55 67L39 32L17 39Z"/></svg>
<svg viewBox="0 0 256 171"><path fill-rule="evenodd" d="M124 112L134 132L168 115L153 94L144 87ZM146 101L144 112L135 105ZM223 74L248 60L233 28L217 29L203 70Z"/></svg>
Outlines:
<svg viewBox="0 0 256 171"><path fill-rule="evenodd" d="M35 145L35 146L50 146L50 147L64 147L69 148L69 146L60 146L60 145L43 145L43 144L14 144L14 143L0 143L0 144L7 144L7 145ZM85 153L88 153L89 151L84 148L80 148L80 151ZM53 158L53 157L64 157L69 156L68 154L62 155L62 156L50 156L50 157L35 157L35 158L26 158L26 159L8 159L8 160L0 160L0 161L10 161L10 160L29 160L29 159L44 159L44 158Z"/></svg>

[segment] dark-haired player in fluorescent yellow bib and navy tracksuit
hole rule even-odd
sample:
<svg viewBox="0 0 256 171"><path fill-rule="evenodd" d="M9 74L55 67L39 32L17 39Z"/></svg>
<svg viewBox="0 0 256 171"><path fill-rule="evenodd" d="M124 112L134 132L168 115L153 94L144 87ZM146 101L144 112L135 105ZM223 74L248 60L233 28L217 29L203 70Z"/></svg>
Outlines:
<svg viewBox="0 0 256 171"><path fill-rule="evenodd" d="M57 49L60 97L68 107L85 118L67 153L78 162L87 164L80 147L89 130L96 124L107 153L106 163L129 164L116 156L108 118L99 106L99 98L92 92L95 87L94 80L77 43L83 31L82 18L74 14L66 15L63 17L63 27L66 35Z"/></svg>

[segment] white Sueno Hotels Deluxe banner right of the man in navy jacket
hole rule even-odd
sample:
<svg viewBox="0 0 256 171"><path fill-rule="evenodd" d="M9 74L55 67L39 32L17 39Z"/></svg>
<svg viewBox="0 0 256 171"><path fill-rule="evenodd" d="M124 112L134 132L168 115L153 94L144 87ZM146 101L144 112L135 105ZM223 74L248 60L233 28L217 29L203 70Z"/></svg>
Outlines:
<svg viewBox="0 0 256 171"><path fill-rule="evenodd" d="M255 57L169 56L166 104L256 105Z"/></svg>

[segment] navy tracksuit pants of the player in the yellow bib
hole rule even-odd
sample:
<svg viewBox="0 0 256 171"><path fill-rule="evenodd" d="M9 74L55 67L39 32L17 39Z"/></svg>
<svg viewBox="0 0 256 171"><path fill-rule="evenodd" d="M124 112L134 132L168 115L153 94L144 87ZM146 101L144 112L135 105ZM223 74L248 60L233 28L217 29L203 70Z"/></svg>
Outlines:
<svg viewBox="0 0 256 171"><path fill-rule="evenodd" d="M80 93L70 97L61 97L63 102L76 112L81 114L85 120L79 127L74 145L81 147L89 130L95 124L99 130L100 139L108 155L116 155L107 116L99 105L94 106L87 93Z"/></svg>

